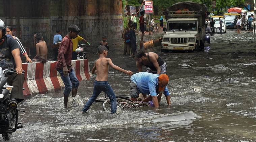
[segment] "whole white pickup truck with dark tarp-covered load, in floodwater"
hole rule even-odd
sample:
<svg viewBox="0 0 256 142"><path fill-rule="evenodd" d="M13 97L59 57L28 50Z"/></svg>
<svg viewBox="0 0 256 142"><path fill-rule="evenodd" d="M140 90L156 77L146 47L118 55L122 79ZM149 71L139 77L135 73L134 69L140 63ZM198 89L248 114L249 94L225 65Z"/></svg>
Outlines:
<svg viewBox="0 0 256 142"><path fill-rule="evenodd" d="M194 9L197 11L193 11ZM168 20L161 51L203 50L206 9L204 4L191 1L176 3L168 8L164 12Z"/></svg>

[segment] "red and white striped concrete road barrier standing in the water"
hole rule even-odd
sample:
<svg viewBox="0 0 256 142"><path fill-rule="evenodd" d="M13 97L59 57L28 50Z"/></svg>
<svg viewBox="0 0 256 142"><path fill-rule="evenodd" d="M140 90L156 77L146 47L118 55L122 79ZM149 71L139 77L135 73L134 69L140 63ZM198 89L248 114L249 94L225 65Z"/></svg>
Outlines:
<svg viewBox="0 0 256 142"><path fill-rule="evenodd" d="M23 63L22 68L25 71L25 80L23 95L34 93L46 93L48 90L56 90L64 87L60 74L55 70L57 62L43 63ZM72 66L76 72L79 81L89 80L91 77L88 60L74 60Z"/></svg>

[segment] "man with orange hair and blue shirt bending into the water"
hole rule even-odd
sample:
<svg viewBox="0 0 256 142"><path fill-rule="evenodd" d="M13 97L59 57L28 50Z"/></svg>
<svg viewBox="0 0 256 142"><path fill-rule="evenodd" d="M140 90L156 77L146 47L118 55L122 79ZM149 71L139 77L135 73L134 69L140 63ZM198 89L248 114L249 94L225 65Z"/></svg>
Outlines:
<svg viewBox="0 0 256 142"><path fill-rule="evenodd" d="M165 95L167 104L170 105L170 93L167 88L169 77L166 74L152 74L148 72L139 72L131 77L130 89L131 100L138 101L139 93L150 94L142 102L152 101L155 107L159 106L162 92ZM157 97L158 94L161 94Z"/></svg>

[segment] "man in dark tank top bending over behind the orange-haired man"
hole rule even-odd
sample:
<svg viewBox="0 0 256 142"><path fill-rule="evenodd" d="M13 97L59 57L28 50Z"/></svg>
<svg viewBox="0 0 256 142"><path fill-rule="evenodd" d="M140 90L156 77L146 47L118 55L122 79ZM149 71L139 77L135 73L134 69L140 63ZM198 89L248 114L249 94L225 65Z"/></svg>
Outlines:
<svg viewBox="0 0 256 142"><path fill-rule="evenodd" d="M165 74L166 73L166 63L165 61L154 52L144 53L139 50L135 54L136 66L139 72L142 72L142 66L147 67L147 71L153 74Z"/></svg>

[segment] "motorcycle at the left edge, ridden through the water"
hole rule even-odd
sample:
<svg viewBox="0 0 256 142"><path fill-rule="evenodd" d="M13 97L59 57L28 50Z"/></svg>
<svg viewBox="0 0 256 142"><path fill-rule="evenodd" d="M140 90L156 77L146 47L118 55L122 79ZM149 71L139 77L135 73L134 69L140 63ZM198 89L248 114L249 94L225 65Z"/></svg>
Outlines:
<svg viewBox="0 0 256 142"><path fill-rule="evenodd" d="M15 99L11 98L11 89L13 86L8 85L7 74L16 73L16 70L2 70L0 67L0 134L4 140L9 140L11 134L17 129L23 128L21 123L18 123L18 115L24 115L25 111L18 110L18 104Z"/></svg>

